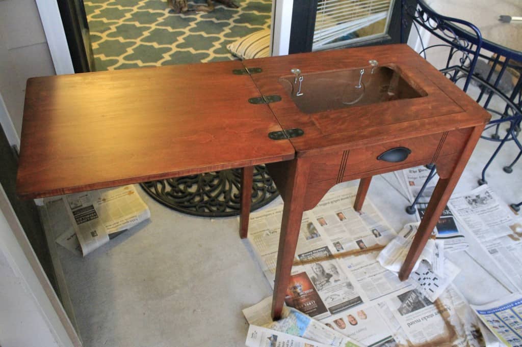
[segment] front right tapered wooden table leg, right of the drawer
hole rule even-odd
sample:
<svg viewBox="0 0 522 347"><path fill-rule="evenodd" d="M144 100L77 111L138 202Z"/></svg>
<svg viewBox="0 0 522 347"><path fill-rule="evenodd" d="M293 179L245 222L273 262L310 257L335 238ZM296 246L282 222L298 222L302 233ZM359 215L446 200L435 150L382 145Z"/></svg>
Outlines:
<svg viewBox="0 0 522 347"><path fill-rule="evenodd" d="M460 179L460 175L462 174L462 171L464 171L468 159L473 152L473 148L480 139L480 134L483 129L483 127L476 127L473 129L466 147L456 163L455 161L436 163L437 173L440 176L440 179L431 195L430 202L428 203L428 207L426 207L417 234L415 235L408 255L406 256L406 260L399 271L399 279L401 281L408 279L413 266L417 262L417 259L419 259L420 254L424 250L424 246L430 239L430 235L435 228L438 219L441 217L442 211L444 210L444 207L446 207L446 203L452 195L453 190Z"/></svg>

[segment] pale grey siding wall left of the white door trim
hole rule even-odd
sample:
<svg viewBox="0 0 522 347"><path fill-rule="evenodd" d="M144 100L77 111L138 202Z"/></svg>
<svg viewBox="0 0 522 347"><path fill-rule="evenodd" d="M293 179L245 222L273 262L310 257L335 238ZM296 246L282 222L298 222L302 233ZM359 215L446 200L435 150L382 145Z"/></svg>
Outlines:
<svg viewBox="0 0 522 347"><path fill-rule="evenodd" d="M0 93L18 136L27 79L54 73L35 1L0 1Z"/></svg>

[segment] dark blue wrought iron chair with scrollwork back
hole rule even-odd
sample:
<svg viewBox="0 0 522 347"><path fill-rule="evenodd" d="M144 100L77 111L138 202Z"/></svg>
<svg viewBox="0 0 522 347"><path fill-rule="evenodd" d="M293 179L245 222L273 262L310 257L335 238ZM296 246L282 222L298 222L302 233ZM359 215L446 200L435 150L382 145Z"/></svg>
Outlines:
<svg viewBox="0 0 522 347"><path fill-rule="evenodd" d="M516 62L522 61L522 53L484 40L480 30L472 23L439 15L422 0L401 0L401 17L401 42L404 43L408 39L405 38L404 28L411 21L420 39L419 54L424 58L431 52L435 52L437 57L442 54L443 67L440 71L461 86L468 95L474 97L477 103L493 116L484 130L482 139L499 142L499 145L484 166L479 184L487 183L485 173L507 141L513 141L520 149L513 163L504 167L505 172L511 173L513 165L522 155L522 144L517 139L522 120L522 79L519 79L516 85L509 85L512 79L506 71L520 69ZM428 31L437 42L426 46L422 41L421 28ZM470 85L478 88L471 90ZM500 134L502 126L506 128L503 136ZM435 166L430 164L426 167L431 169L430 174L412 205L406 208L409 214L415 213L419 197L435 176Z"/></svg>

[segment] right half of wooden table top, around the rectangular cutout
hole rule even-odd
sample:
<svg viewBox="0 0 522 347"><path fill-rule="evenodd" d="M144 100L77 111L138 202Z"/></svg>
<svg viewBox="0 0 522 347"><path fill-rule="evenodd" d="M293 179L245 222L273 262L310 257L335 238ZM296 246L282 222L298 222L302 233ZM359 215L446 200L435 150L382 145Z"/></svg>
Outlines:
<svg viewBox="0 0 522 347"><path fill-rule="evenodd" d="M281 76L292 76L290 69L299 68L304 92L300 97L317 97L306 94L308 73L346 68L370 71L370 59L377 60L379 66L398 66L411 83L428 95L306 114L279 82ZM281 102L269 104L281 126L304 131L303 136L290 139L297 156L319 154L332 147L347 150L413 134L420 136L476 126L490 118L487 111L406 44L251 59L244 64L247 68L263 69L262 73L252 75L252 79L264 95L282 96Z"/></svg>

